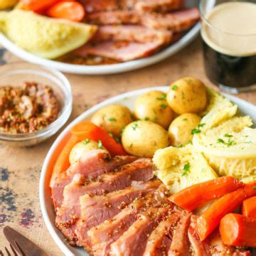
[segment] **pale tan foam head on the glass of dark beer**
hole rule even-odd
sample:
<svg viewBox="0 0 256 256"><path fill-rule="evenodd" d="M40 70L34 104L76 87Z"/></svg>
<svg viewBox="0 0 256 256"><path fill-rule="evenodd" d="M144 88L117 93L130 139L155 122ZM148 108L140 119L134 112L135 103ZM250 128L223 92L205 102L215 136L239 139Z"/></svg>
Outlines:
<svg viewBox="0 0 256 256"><path fill-rule="evenodd" d="M204 18L201 35L208 46L232 56L256 54L256 4L225 2Z"/></svg>

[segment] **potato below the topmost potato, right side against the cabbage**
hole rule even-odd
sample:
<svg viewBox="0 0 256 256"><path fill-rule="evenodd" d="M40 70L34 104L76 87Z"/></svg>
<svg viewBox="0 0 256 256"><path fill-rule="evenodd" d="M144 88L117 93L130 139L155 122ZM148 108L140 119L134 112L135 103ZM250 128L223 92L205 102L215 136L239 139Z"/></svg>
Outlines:
<svg viewBox="0 0 256 256"><path fill-rule="evenodd" d="M168 129L173 146L184 146L188 144L193 135L191 131L198 127L201 117L196 114L186 113L176 117Z"/></svg>

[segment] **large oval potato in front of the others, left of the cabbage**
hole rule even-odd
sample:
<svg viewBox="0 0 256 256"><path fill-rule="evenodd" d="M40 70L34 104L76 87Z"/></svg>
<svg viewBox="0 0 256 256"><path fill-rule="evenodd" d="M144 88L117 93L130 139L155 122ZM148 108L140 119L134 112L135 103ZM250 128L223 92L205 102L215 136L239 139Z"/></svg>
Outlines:
<svg viewBox="0 0 256 256"><path fill-rule="evenodd" d="M152 157L157 149L169 146L169 135L159 124L135 121L125 127L122 144L128 154Z"/></svg>

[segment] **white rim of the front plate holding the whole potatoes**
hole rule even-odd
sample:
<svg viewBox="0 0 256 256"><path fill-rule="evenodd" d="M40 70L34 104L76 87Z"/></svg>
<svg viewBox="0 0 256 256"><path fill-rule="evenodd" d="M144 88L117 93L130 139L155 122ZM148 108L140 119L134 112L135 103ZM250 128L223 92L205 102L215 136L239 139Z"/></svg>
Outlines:
<svg viewBox="0 0 256 256"><path fill-rule="evenodd" d="M137 99L137 97L139 97L139 95L142 95L145 92L150 90L161 90L163 92L167 92L168 88L169 87L167 86L149 87L142 90L127 92L122 95L117 95L116 97L112 97L109 100L105 100L104 102L101 102L100 104L95 105L95 107L90 108L90 110L85 111L73 122L71 122L71 124L69 124L68 127L64 129L64 131L60 134L60 136L55 140L55 142L51 146L46 156L46 159L43 163L43 169L42 169L41 178L40 178L39 196L40 196L41 210L43 213L43 219L46 222L46 226L50 232L50 235L53 237L53 240L55 240L56 244L58 245L58 247L60 247L60 250L62 250L65 255L84 255L85 256L87 255L87 252L85 252L85 250L83 250L82 248L70 247L70 245L68 245L68 242L65 241L63 234L55 226L55 212L53 209L53 201L51 198L51 193L49 188L51 173L50 171L48 171L48 166L50 164L50 159L53 155L53 152L55 151L56 146L60 144L60 141L65 137L65 135L68 133L71 127L73 127L75 124L78 124L78 122L81 122L82 120L90 119L92 114L94 114L97 110L100 110L102 107L105 107L106 105L110 105L110 104L122 104L129 107L130 110L133 110L134 102ZM228 97L230 100L235 102L235 104L238 105L241 112L243 112L244 114L250 115L250 117L252 117L254 123L256 124L256 106L255 105L245 102L244 100L240 100L238 97L234 97L230 95L225 95L225 97Z"/></svg>

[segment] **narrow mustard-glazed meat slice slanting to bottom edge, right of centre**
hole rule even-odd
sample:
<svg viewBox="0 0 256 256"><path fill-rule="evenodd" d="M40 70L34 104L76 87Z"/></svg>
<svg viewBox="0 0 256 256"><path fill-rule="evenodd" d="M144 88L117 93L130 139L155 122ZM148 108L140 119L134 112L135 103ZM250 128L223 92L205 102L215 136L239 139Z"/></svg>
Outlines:
<svg viewBox="0 0 256 256"><path fill-rule="evenodd" d="M176 223L181 218L181 213L174 211L166 217L149 236L146 243L144 256L167 255L171 246L171 239Z"/></svg>

